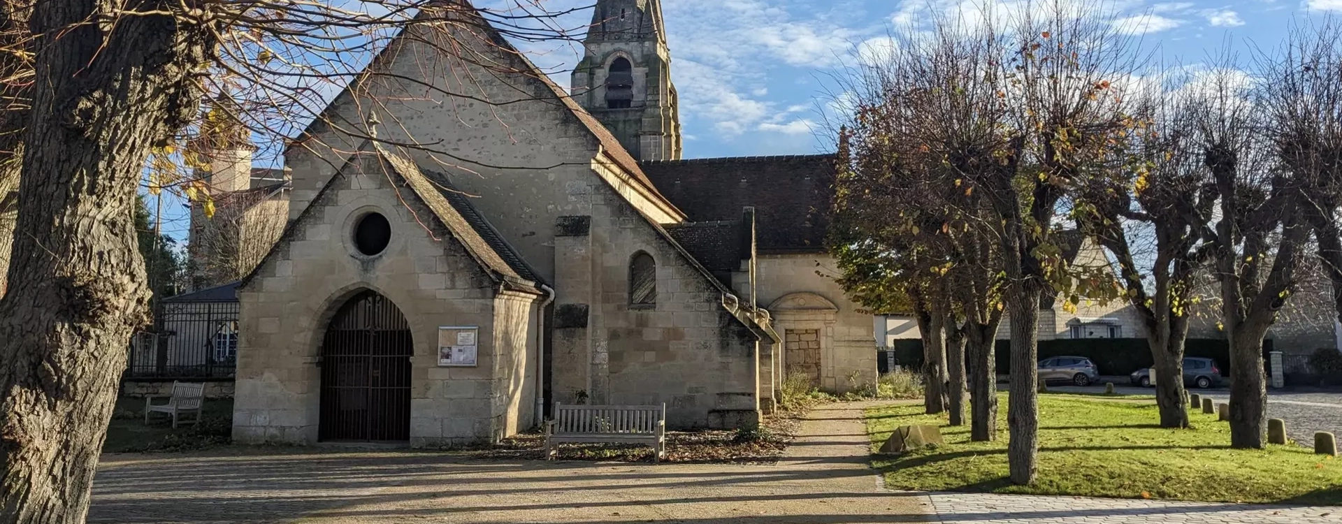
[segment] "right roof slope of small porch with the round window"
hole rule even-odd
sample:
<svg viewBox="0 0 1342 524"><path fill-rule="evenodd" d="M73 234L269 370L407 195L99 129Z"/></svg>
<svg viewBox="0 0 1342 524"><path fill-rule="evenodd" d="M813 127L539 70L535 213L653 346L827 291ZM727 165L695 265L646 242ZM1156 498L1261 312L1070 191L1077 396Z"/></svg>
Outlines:
<svg viewBox="0 0 1342 524"><path fill-rule="evenodd" d="M405 185L427 205L443 222L466 251L483 269L493 273L495 279L537 287L542 280L523 261L522 256L513 249L507 241L498 235L498 231L471 205L468 197L446 184L447 177L435 176L431 180L415 162L393 154L381 145L373 145L378 155L392 166L392 170L405 181Z"/></svg>

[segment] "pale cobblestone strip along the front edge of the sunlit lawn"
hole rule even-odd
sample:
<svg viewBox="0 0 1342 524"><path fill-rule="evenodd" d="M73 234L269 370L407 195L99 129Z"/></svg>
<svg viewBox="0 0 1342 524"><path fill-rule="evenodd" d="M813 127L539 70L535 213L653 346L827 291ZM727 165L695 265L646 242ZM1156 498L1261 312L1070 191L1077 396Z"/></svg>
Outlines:
<svg viewBox="0 0 1342 524"><path fill-rule="evenodd" d="M942 523L974 524L1337 524L1342 508L1155 500L933 493Z"/></svg>

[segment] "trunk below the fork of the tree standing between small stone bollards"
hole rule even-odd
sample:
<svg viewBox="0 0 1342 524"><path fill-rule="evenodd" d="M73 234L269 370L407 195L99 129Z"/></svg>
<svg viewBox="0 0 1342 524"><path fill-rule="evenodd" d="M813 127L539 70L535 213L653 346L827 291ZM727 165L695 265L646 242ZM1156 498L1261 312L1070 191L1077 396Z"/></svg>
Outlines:
<svg viewBox="0 0 1342 524"><path fill-rule="evenodd" d="M1231 332L1231 448L1266 445L1267 377L1263 373L1266 327L1243 326Z"/></svg>

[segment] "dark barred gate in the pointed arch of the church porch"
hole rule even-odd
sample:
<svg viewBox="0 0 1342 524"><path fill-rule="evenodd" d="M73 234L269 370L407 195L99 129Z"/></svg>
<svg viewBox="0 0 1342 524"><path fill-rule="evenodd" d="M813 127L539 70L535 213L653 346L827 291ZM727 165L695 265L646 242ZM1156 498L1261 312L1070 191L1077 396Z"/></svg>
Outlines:
<svg viewBox="0 0 1342 524"><path fill-rule="evenodd" d="M408 441L411 342L405 316L366 291L345 303L322 343L322 441Z"/></svg>

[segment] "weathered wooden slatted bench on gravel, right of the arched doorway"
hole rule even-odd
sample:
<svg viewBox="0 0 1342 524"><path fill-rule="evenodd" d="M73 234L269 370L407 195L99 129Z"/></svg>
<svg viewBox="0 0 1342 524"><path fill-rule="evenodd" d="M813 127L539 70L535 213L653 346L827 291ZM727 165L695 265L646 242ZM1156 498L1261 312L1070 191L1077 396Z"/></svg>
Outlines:
<svg viewBox="0 0 1342 524"><path fill-rule="evenodd" d="M560 442L635 442L652 446L654 461L667 452L667 405L584 406L554 403L554 419L545 423L545 458L558 454Z"/></svg>

